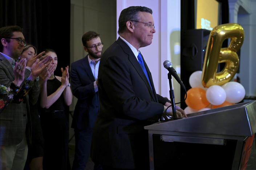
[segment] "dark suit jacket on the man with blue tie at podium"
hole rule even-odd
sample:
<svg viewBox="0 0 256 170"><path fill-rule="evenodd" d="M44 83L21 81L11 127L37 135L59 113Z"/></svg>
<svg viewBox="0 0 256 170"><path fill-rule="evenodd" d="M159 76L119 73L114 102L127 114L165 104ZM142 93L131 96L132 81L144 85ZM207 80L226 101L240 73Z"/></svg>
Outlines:
<svg viewBox="0 0 256 170"><path fill-rule="evenodd" d="M145 61L144 64L153 91L122 39L118 38L104 52L98 73L101 109L93 131L93 161L114 168L149 167L148 135L143 127L151 124L147 120L154 116L158 120L167 99L156 94Z"/></svg>

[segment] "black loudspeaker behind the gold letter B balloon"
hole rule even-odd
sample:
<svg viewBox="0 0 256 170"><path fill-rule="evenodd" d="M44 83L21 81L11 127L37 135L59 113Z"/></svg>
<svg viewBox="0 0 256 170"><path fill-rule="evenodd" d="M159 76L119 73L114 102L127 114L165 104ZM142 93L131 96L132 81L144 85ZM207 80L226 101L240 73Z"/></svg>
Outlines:
<svg viewBox="0 0 256 170"><path fill-rule="evenodd" d="M190 89L189 77L195 71L203 69L204 55L211 31L205 29L185 30L182 35L182 46L180 55L180 78L186 87ZM185 91L181 88L181 98L185 96ZM186 103L181 103L182 109L187 107Z"/></svg>

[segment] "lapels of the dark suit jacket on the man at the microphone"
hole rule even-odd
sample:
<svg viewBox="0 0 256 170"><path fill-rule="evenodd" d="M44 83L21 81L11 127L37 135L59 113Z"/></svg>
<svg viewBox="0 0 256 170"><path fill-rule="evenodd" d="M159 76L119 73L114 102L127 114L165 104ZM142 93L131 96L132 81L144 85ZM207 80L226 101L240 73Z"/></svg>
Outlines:
<svg viewBox="0 0 256 170"><path fill-rule="evenodd" d="M147 77L145 76L145 73L143 72L142 68L141 68L141 65L139 65L139 62L138 60L136 59L136 57L134 56L133 52L131 51L130 47L122 41L121 38L118 38L117 39L117 43L123 48L123 50L125 51L126 54L129 55L129 61L131 62L131 64L133 65L133 67L137 70L139 76L141 76L142 80L145 82L145 84L147 85L147 89L149 90L149 93L151 95L151 97L155 100L155 95L153 94L152 92L152 89L154 89L154 85L153 83L151 83L151 86L152 86L152 89L149 85L149 81L147 81ZM143 58L143 57L142 57ZM144 61L143 59L143 62L145 64L145 67L146 67L146 62ZM150 79L150 82L153 82L152 81L152 77L149 73L149 68L146 67L147 69L147 73L148 73L148 76L149 76L149 79Z"/></svg>

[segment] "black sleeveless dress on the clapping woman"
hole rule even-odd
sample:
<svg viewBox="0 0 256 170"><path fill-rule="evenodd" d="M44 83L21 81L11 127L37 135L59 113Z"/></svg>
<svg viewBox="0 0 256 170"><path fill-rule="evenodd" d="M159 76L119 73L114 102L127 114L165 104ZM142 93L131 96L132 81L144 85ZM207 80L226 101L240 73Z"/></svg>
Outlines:
<svg viewBox="0 0 256 170"><path fill-rule="evenodd" d="M61 82L54 79L47 81L47 96L54 93ZM68 157L68 119L65 114L63 93L49 109L40 109L42 133L44 137L43 169L69 170Z"/></svg>

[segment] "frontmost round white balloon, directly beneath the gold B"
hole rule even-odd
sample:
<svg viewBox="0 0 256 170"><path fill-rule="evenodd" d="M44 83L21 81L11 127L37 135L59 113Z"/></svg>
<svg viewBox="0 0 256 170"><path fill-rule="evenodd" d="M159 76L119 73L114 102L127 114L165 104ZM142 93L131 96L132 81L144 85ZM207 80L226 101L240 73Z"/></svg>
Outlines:
<svg viewBox="0 0 256 170"><path fill-rule="evenodd" d="M212 105L221 105L226 99L226 92L221 86L212 85L206 91L206 98Z"/></svg>

